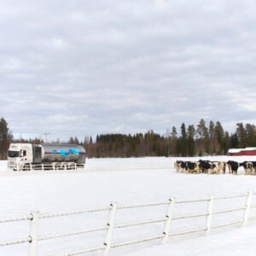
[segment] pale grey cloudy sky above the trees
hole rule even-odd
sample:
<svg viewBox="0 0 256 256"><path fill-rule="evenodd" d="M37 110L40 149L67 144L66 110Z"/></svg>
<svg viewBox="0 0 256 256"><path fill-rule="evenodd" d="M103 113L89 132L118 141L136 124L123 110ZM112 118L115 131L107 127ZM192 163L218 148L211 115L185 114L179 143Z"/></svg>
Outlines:
<svg viewBox="0 0 256 256"><path fill-rule="evenodd" d="M0 0L0 117L49 140L256 123L256 2Z"/></svg>

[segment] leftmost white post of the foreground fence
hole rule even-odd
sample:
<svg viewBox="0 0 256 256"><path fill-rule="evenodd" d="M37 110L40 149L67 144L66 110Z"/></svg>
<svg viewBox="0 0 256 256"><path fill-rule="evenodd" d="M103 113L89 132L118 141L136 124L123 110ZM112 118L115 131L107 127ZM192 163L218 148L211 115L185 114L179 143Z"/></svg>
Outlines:
<svg viewBox="0 0 256 256"><path fill-rule="evenodd" d="M37 247L38 247L38 219L39 212L31 212L32 218L30 221L30 246L29 246L29 256L37 255Z"/></svg>

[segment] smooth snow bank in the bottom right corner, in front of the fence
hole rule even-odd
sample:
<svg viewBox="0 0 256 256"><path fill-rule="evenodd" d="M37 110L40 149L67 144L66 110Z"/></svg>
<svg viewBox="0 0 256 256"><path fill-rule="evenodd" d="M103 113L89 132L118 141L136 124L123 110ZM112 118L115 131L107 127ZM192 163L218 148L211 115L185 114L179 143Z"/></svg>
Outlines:
<svg viewBox="0 0 256 256"><path fill-rule="evenodd" d="M187 238L182 241L169 242L166 245L148 247L137 250L133 253L125 253L124 256L253 256L256 253L255 245L255 225L253 227L239 228L221 232L210 236Z"/></svg>

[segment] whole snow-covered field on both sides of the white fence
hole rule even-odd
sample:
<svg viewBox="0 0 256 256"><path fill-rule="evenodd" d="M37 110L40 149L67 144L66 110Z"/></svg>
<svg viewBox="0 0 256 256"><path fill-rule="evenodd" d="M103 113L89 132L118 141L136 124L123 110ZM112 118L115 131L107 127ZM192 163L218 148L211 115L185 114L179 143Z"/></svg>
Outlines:
<svg viewBox="0 0 256 256"><path fill-rule="evenodd" d="M204 157L204 160L256 160L255 157ZM207 175L177 173L173 162L177 158L130 158L130 159L89 159L84 172L10 172L6 161L0 161L0 218L27 214L32 210L40 212L61 212L90 207L105 207L110 201L119 204L137 204L166 201L170 197L178 200L206 198L207 195L233 195L256 192L256 176ZM181 158L179 158L181 160ZM198 160L189 158L185 160ZM239 174L242 174L242 168ZM229 201L227 207L244 204ZM253 198L256 204L256 196ZM223 206L220 206L223 207ZM206 202L177 209L179 213L206 212ZM253 212L251 212L253 213ZM166 206L131 210L119 210L117 222L137 221L148 218L164 218ZM242 212L227 214L221 221L241 218ZM254 212L256 215L256 212ZM224 219L225 218L225 219ZM72 217L46 218L39 222L39 234L78 230L101 226L108 221L108 212L84 213ZM171 230L191 229L204 226L205 218L177 221ZM0 224L0 241L27 236L28 222ZM126 230L114 230L113 241L127 241L145 236L161 234L163 224L148 224ZM106 231L82 236L67 236L38 243L38 255L57 255L73 249L100 245ZM247 227L234 225L230 228L212 230L209 236L195 234L170 238L166 245L150 241L136 246L111 250L111 255L255 255L256 221ZM20 244L0 247L0 255L27 255L28 245ZM87 253L84 255L102 255Z"/></svg>

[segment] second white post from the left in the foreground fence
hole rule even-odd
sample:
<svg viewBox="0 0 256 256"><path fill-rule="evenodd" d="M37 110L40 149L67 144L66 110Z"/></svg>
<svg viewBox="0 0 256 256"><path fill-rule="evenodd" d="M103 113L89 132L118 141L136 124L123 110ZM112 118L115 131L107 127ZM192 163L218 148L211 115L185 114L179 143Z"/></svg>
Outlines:
<svg viewBox="0 0 256 256"><path fill-rule="evenodd" d="M108 216L108 230L107 230L107 235L106 235L105 242L104 242L104 245L106 246L106 248L103 252L103 256L109 255L109 250L111 247L111 241L112 241L112 235L113 235L113 224L114 224L116 210L117 210L117 203L111 202L109 216Z"/></svg>

